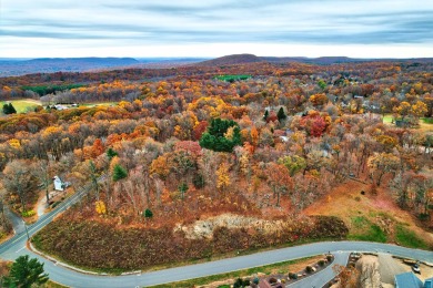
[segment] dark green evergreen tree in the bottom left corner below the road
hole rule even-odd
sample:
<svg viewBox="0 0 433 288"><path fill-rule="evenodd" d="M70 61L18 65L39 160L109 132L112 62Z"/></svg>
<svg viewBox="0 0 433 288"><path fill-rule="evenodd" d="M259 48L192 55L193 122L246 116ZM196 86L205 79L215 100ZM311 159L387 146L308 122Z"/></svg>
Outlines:
<svg viewBox="0 0 433 288"><path fill-rule="evenodd" d="M8 277L4 277L6 287L30 288L48 281L48 274L43 271L43 264L37 258L29 259L29 255L20 256L12 264Z"/></svg>

